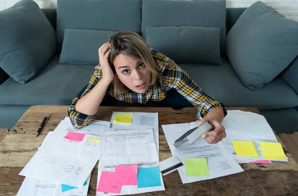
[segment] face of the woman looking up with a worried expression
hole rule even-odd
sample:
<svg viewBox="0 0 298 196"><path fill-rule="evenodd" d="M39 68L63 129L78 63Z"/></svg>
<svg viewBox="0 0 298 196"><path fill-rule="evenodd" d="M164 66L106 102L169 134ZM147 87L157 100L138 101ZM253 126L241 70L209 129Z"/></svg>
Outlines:
<svg viewBox="0 0 298 196"><path fill-rule="evenodd" d="M143 62L127 55L119 54L115 57L115 76L131 90L145 93L150 84L150 71Z"/></svg>

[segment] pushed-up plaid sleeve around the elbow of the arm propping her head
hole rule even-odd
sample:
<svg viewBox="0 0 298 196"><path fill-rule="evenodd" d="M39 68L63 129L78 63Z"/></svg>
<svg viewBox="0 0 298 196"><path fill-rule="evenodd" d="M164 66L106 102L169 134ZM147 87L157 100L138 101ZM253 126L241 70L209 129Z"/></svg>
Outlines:
<svg viewBox="0 0 298 196"><path fill-rule="evenodd" d="M80 98L82 98L84 95L86 95L88 92L90 92L90 90L93 89L93 87L98 83L98 81L101 78L102 78L102 70L101 70L101 66L98 64L97 66L95 66L94 73L92 74L91 79L90 79L86 89L82 93L79 93L74 98L70 107L68 108L68 115L69 115L70 120L74 126L74 129L83 128L83 127L89 125L90 123L92 123L93 120L95 119L95 115L89 116L89 115L85 115L85 114L77 112L75 110L75 105Z"/></svg>

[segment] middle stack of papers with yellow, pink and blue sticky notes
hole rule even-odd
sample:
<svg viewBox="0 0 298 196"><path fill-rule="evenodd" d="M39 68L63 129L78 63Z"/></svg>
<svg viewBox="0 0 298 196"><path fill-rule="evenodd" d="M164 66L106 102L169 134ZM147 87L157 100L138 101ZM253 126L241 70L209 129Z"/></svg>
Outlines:
<svg viewBox="0 0 298 196"><path fill-rule="evenodd" d="M157 113L114 112L111 118L111 129L105 131L101 138L97 196L129 195L165 190L161 173L156 167L159 162ZM117 180L119 177L118 165L126 165L126 167L127 165L138 165L137 184L122 185L123 182ZM149 174L153 176L149 177ZM102 175L104 176L102 177ZM116 179L113 182L114 185L110 184L112 186L108 187L109 189L113 187L114 190L110 191L114 192L104 193L101 178ZM115 186L117 183L119 186Z"/></svg>

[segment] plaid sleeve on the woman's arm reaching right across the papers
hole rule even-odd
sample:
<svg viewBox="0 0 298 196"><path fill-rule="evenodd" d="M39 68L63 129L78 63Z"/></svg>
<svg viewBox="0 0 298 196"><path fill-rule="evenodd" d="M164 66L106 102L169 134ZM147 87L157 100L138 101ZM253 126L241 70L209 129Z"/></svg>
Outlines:
<svg viewBox="0 0 298 196"><path fill-rule="evenodd" d="M169 88L176 89L178 93L198 109L196 117L199 120L214 108L222 108L224 117L226 116L227 112L224 104L204 92L189 74L176 65L173 60L167 61L162 77L166 78Z"/></svg>

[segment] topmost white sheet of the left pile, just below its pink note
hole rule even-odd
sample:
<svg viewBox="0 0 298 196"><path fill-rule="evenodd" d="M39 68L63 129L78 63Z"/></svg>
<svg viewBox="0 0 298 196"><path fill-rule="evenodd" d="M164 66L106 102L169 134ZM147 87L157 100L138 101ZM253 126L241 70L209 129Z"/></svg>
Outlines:
<svg viewBox="0 0 298 196"><path fill-rule="evenodd" d="M50 137L50 133L57 137ZM85 134L82 141L64 138L69 131L49 132L33 162L20 175L80 188L90 175L100 155L100 142ZM48 137L49 136L49 137Z"/></svg>

